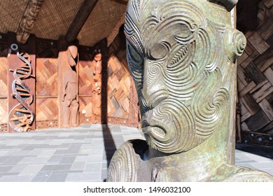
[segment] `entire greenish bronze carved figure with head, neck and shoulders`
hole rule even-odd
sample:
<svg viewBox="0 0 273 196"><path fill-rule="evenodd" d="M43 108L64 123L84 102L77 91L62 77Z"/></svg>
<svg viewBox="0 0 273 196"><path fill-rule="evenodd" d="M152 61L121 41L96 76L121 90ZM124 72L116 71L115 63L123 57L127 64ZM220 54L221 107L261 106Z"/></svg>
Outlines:
<svg viewBox="0 0 273 196"><path fill-rule="evenodd" d="M273 181L234 165L237 0L130 0L127 61L146 141L113 155L107 181Z"/></svg>

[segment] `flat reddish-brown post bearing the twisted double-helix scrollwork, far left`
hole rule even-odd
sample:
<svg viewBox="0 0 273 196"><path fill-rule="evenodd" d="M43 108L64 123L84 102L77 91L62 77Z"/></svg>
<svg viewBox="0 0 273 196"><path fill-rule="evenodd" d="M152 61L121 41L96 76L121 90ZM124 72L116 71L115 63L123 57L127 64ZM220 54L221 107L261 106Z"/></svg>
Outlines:
<svg viewBox="0 0 273 196"><path fill-rule="evenodd" d="M8 32L8 132L35 130L36 37L21 45Z"/></svg>

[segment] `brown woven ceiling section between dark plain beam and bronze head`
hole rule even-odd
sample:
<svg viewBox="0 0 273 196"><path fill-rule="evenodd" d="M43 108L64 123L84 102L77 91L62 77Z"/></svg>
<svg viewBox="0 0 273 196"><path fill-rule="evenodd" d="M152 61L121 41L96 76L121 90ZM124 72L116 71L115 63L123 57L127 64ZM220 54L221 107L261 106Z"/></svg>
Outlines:
<svg viewBox="0 0 273 196"><path fill-rule="evenodd" d="M109 36L125 13L126 7L125 4L115 1L99 0L78 34L80 45L94 45Z"/></svg>

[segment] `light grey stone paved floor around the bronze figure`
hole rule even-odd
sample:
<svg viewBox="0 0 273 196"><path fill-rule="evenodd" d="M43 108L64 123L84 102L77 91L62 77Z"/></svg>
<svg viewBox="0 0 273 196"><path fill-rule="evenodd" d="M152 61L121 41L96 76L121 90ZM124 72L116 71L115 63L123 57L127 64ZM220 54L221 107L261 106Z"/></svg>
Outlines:
<svg viewBox="0 0 273 196"><path fill-rule="evenodd" d="M143 136L137 128L116 125L0 134L0 181L105 181L114 151L128 139ZM272 159L272 148L238 144L235 151L236 165L270 174Z"/></svg>

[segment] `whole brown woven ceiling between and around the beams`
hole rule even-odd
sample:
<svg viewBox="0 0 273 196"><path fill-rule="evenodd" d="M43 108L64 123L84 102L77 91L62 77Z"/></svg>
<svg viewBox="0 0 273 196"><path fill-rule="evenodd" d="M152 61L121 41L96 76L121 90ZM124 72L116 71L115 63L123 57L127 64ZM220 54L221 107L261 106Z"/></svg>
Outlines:
<svg viewBox="0 0 273 196"><path fill-rule="evenodd" d="M36 16L30 34L38 38L57 40L65 36L75 18L80 18L80 7L85 1L95 0L1 0L0 33L18 32L22 17L30 2L41 1L41 10ZM98 0L76 38L80 45L94 45L102 38L115 36L122 25L127 0ZM78 14L77 14L78 13ZM75 25L76 26L76 25ZM113 38L112 38L113 39Z"/></svg>

